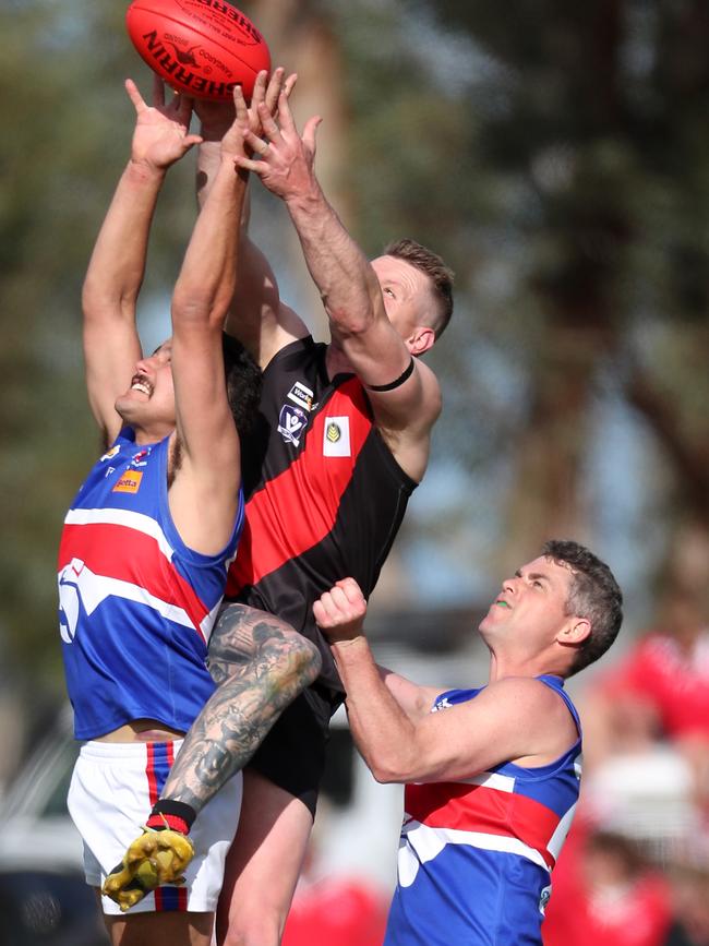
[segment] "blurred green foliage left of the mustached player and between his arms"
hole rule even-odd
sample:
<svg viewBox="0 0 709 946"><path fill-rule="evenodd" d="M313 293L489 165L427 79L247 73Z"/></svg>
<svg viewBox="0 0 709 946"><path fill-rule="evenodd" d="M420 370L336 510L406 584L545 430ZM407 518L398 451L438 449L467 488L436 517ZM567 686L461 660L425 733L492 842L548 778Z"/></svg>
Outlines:
<svg viewBox="0 0 709 946"><path fill-rule="evenodd" d="M63 513L99 447L83 382L80 295L93 240L128 158L121 79L144 67L122 4L3 3L0 65L0 646L8 674L60 685L56 553ZM118 79L117 79L118 76ZM175 278L193 206L166 188L145 292ZM191 171L184 168L191 187ZM12 676L10 679L13 679ZM16 680L16 678L14 678Z"/></svg>

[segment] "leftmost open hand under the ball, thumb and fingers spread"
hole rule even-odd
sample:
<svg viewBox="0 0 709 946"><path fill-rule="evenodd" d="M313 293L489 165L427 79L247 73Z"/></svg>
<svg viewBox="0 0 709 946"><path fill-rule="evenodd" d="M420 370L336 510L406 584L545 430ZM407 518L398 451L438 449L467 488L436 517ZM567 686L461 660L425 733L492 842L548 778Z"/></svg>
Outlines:
<svg viewBox="0 0 709 946"><path fill-rule="evenodd" d="M152 106L146 105L132 79L125 80L125 91L136 116L131 160L166 170L202 141L201 135L190 134L192 99L176 92L166 105L165 83L157 75Z"/></svg>

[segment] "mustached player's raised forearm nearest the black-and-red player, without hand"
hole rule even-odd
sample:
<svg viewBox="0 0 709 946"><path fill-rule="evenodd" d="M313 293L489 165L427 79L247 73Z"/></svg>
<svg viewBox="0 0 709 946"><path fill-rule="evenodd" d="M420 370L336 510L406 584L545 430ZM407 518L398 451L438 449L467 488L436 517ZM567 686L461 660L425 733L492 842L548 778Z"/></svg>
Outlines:
<svg viewBox="0 0 709 946"><path fill-rule="evenodd" d="M173 318L221 324L236 285L245 177L225 159L197 217L173 294Z"/></svg>

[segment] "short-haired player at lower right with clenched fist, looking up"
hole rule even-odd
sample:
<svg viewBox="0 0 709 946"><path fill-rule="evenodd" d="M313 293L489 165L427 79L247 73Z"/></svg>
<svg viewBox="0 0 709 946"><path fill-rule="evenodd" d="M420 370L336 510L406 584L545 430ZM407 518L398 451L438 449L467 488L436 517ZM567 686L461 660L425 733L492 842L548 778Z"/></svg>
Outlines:
<svg viewBox="0 0 709 946"><path fill-rule="evenodd" d="M472 690L441 693L377 667L351 578L314 612L358 749L378 781L406 785L385 946L541 944L581 777L564 680L604 654L622 622L608 565L551 541L503 582L479 628L489 682Z"/></svg>

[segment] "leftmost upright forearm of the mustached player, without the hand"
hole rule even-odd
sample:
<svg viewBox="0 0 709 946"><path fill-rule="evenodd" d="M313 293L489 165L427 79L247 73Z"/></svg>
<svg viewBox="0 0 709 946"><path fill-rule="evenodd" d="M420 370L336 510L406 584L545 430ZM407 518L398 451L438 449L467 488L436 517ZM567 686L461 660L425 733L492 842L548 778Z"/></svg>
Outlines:
<svg viewBox="0 0 709 946"><path fill-rule="evenodd" d="M165 171L129 161L92 253L83 288L87 318L130 307L145 273L148 236Z"/></svg>

